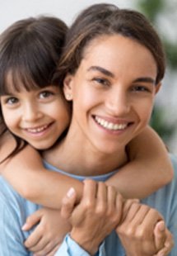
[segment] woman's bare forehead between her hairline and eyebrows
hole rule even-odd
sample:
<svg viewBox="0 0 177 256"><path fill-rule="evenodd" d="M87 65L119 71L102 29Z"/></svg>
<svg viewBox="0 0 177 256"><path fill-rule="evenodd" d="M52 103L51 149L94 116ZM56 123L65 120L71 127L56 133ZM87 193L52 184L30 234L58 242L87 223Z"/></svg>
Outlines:
<svg viewBox="0 0 177 256"><path fill-rule="evenodd" d="M137 40L121 35L105 36L93 40L86 48L81 65L86 69L102 67L113 73L150 73L156 77L157 67L151 51ZM124 73L124 74L125 74Z"/></svg>

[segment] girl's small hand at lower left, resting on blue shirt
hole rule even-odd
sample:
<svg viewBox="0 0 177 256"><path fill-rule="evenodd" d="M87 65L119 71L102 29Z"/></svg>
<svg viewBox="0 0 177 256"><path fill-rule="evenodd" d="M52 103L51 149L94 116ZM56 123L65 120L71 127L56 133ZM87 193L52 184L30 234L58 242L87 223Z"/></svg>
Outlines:
<svg viewBox="0 0 177 256"><path fill-rule="evenodd" d="M22 230L30 230L36 224L35 230L26 239L26 248L35 256L54 255L64 236L71 230L71 225L61 217L60 211L49 208L35 211L27 218Z"/></svg>

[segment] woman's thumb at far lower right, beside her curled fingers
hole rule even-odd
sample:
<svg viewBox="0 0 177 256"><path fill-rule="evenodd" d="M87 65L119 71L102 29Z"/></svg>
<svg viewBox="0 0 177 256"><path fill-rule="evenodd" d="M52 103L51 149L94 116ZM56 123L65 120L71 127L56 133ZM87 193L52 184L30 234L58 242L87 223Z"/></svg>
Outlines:
<svg viewBox="0 0 177 256"><path fill-rule="evenodd" d="M157 251L164 247L165 239L165 222L164 220L160 220L156 223L156 226L154 228L154 242Z"/></svg>

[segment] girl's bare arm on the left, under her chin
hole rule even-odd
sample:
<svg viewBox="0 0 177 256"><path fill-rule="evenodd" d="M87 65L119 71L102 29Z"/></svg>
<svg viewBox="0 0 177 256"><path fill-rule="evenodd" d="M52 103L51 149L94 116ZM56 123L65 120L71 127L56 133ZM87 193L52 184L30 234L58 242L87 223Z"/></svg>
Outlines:
<svg viewBox="0 0 177 256"><path fill-rule="evenodd" d="M15 145L12 135L4 136L1 140L0 161L12 152ZM77 201L82 197L82 182L45 169L40 153L30 145L2 162L0 173L22 197L43 206L60 209L62 198L70 187L77 192Z"/></svg>

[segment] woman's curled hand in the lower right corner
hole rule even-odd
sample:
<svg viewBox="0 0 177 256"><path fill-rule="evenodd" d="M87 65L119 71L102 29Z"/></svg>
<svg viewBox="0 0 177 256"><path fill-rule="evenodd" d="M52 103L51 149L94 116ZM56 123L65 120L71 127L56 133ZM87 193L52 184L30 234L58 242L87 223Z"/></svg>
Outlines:
<svg viewBox="0 0 177 256"><path fill-rule="evenodd" d="M167 255L173 246L160 213L136 202L125 202L116 232L128 256Z"/></svg>

